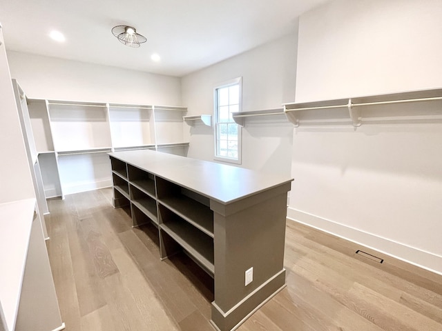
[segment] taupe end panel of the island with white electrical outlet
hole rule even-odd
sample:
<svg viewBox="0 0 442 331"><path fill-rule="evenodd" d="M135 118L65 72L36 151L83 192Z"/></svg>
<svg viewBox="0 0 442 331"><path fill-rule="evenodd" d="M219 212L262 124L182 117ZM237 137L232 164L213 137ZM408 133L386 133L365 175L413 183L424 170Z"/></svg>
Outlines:
<svg viewBox="0 0 442 331"><path fill-rule="evenodd" d="M289 183L214 212L215 300L212 323L231 330L285 285L284 248ZM245 286L245 271L253 281Z"/></svg>

